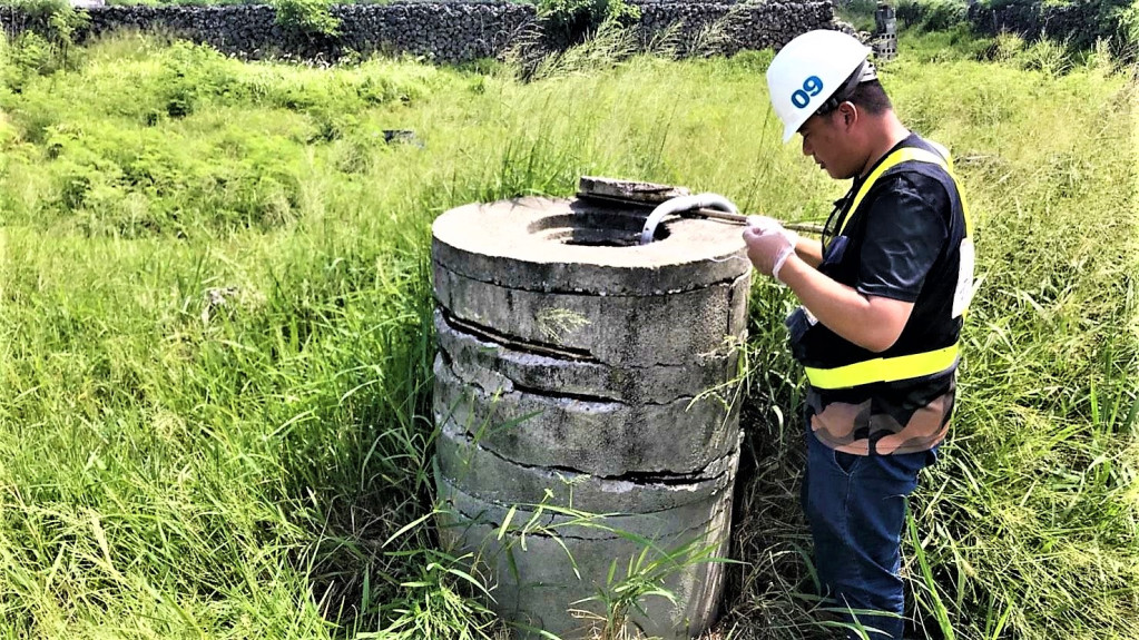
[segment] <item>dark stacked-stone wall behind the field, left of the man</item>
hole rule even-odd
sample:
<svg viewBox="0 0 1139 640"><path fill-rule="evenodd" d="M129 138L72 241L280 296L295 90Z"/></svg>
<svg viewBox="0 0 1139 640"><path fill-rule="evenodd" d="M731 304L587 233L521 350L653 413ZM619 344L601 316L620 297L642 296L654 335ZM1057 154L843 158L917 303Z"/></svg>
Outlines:
<svg viewBox="0 0 1139 640"><path fill-rule="evenodd" d="M680 23L679 31L673 32L677 41L693 42L704 38L707 27L719 24L727 36L718 39L720 49L729 54L780 47L804 31L831 27L834 19L829 0L633 3L641 9L642 42L677 23ZM519 38L532 36L536 17L532 5L505 1L341 5L330 9L341 19L339 32L327 36L276 24L276 11L264 5L96 7L87 13L90 24L77 34L81 41L122 28L161 30L248 58L287 55L337 59L351 52L385 51L446 63L500 55ZM0 26L14 35L43 27L43 20L32 20L11 7L0 7Z"/></svg>

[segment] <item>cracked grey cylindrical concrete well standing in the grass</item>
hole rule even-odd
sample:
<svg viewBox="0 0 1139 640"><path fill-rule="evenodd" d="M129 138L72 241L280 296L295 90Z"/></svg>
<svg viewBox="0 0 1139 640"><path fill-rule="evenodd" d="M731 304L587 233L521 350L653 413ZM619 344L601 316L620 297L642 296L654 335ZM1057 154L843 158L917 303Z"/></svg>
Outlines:
<svg viewBox="0 0 1139 640"><path fill-rule="evenodd" d="M639 599L630 630L719 614L749 264L738 225L702 218L639 246L646 215L524 198L433 225L441 538L521 637L590 637L631 566L673 599Z"/></svg>

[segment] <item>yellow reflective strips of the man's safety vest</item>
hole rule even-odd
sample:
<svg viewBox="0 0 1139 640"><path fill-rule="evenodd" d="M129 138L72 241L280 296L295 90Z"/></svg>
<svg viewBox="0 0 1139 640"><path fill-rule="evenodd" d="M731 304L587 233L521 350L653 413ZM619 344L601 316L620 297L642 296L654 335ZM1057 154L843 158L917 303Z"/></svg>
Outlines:
<svg viewBox="0 0 1139 640"><path fill-rule="evenodd" d="M939 150L943 149L943 147L940 146L936 146L936 148ZM965 196L960 189L960 181L953 173L953 165L949 159L948 151L939 155L921 148L902 147L886 156L886 158L878 164L878 166L870 173L866 182L862 183L861 188L859 188L858 192L854 195L854 199L852 200L850 208L846 210L845 220L843 220L836 236L843 235L843 231L846 229L846 224L852 218L854 218L854 212L858 211L859 205L862 204L862 200L870 191L870 188L874 187L874 183L877 182L886 171L903 162L935 164L949 174L950 179L953 181L953 186L957 187L957 196L961 203L961 212L965 214L965 238L961 240L961 264L959 265L958 288L956 293L957 297L954 297L953 302L953 317L956 318L958 314L964 315L973 295L973 222L969 216L968 205L965 203ZM812 387L820 389L849 388L874 383L907 380L910 378L919 378L948 371L957 366L958 354L958 344L953 344L951 346L921 353L896 355L893 358L876 358L829 369L805 367L805 370L806 378L810 380Z"/></svg>

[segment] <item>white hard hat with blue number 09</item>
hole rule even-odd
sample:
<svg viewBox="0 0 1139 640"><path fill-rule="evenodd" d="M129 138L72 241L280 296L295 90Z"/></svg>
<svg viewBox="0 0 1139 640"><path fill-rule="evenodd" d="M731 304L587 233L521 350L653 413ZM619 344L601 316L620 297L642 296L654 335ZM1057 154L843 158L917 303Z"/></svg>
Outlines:
<svg viewBox="0 0 1139 640"><path fill-rule="evenodd" d="M779 50L768 67L768 90L784 123L784 142L833 96L845 97L854 84L877 77L869 55L857 38L830 30L809 31ZM851 77L859 68L862 73Z"/></svg>

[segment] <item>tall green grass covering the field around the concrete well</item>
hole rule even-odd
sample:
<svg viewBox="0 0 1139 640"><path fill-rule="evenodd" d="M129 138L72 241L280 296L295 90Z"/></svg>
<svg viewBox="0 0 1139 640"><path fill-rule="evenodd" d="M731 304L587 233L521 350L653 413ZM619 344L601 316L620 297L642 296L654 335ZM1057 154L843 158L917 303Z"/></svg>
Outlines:
<svg viewBox="0 0 1139 640"><path fill-rule="evenodd" d="M885 84L953 148L982 276L907 539L915 633L1134 638L1134 81L902 44ZM0 68L3 637L494 634L429 517L434 216L581 174L796 221L842 191L779 145L770 54L579 51L530 83L138 38L46 75L24 54ZM724 637L827 633L789 303L756 285Z"/></svg>

